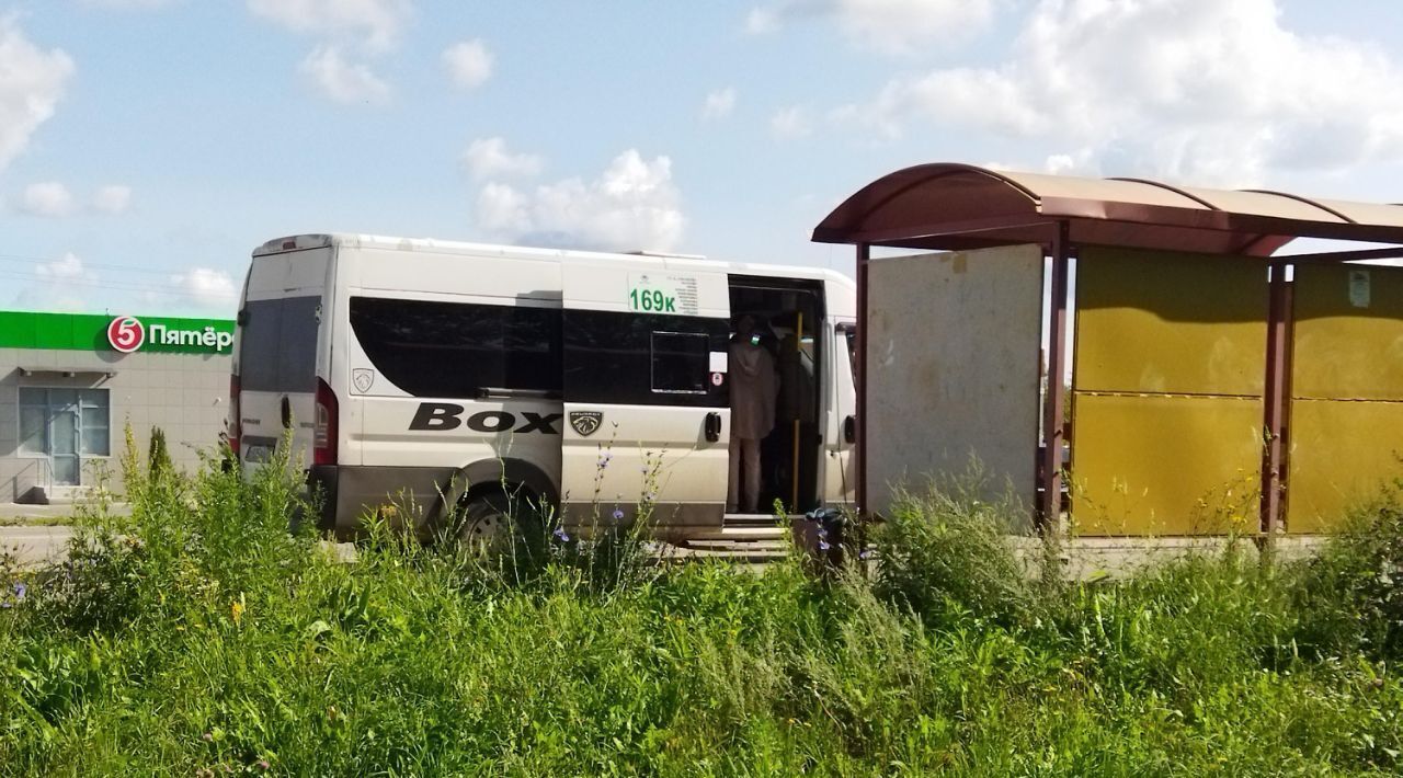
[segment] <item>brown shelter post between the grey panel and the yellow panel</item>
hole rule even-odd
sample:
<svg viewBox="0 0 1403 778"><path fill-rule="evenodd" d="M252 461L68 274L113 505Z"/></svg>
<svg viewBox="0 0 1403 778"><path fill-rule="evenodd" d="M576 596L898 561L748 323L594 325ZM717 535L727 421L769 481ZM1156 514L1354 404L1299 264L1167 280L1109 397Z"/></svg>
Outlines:
<svg viewBox="0 0 1403 778"><path fill-rule="evenodd" d="M1062 514L1062 444L1066 439L1066 308L1070 265L1070 227L1058 221L1052 234L1052 278L1048 290L1048 366L1042 405L1042 463L1038 468L1038 523L1055 530Z"/></svg>

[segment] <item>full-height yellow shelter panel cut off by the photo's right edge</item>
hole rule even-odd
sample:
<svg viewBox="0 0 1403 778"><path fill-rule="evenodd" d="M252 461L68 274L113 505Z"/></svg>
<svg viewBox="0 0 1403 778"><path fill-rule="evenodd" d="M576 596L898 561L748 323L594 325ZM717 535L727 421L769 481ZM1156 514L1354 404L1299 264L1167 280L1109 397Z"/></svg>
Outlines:
<svg viewBox="0 0 1403 778"><path fill-rule="evenodd" d="M1329 531L1403 475L1403 269L1295 271L1287 531Z"/></svg>

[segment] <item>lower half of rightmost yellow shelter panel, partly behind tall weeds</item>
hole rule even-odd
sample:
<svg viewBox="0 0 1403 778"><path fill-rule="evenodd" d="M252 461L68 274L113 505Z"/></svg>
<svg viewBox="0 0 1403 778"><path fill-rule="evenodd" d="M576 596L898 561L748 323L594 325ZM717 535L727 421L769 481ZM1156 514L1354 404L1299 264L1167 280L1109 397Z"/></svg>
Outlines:
<svg viewBox="0 0 1403 778"><path fill-rule="evenodd" d="M1403 477L1403 402L1291 404L1287 531L1327 533Z"/></svg>

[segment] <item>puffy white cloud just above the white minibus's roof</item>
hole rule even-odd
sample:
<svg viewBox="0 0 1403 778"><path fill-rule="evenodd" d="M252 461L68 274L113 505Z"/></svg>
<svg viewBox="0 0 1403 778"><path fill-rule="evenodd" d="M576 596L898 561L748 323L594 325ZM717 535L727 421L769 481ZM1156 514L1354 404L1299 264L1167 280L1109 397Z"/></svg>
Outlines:
<svg viewBox="0 0 1403 778"><path fill-rule="evenodd" d="M672 160L619 154L596 181L567 178L530 192L485 184L477 224L501 238L613 251L673 250L686 219L672 182Z"/></svg>

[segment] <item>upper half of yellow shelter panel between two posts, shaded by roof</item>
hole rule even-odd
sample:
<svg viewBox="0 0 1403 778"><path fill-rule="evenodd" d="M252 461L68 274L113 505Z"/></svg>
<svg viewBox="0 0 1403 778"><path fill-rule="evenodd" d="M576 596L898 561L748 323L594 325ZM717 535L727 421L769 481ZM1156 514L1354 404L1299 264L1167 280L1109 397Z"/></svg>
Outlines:
<svg viewBox="0 0 1403 778"><path fill-rule="evenodd" d="M1076 265L1073 383L1260 397L1266 322L1261 259L1086 247Z"/></svg>

